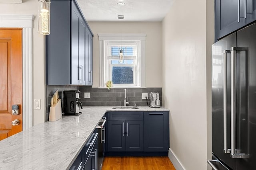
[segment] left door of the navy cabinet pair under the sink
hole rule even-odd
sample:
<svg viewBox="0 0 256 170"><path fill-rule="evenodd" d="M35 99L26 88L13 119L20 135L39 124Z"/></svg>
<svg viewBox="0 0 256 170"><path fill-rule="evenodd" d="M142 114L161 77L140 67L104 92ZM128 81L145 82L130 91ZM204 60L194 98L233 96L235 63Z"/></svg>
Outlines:
<svg viewBox="0 0 256 170"><path fill-rule="evenodd" d="M125 121L109 120L108 121L108 151L124 152L125 151Z"/></svg>

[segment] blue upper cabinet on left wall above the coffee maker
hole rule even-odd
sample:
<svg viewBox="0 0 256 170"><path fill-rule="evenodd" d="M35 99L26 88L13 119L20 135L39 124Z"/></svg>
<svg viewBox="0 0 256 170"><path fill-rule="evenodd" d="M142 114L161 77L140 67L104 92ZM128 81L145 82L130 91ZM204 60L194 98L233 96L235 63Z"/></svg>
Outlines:
<svg viewBox="0 0 256 170"><path fill-rule="evenodd" d="M93 36L75 0L51 1L51 33L46 36L46 84L86 85L86 35ZM92 57L91 57L92 58ZM92 77L90 77L90 80Z"/></svg>

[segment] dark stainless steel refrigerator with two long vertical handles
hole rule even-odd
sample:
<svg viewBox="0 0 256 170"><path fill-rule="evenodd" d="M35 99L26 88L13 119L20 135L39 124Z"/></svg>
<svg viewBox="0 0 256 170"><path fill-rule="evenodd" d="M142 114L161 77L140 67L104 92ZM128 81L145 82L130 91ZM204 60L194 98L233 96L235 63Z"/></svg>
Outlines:
<svg viewBox="0 0 256 170"><path fill-rule="evenodd" d="M256 170L256 23L212 45L214 170Z"/></svg>

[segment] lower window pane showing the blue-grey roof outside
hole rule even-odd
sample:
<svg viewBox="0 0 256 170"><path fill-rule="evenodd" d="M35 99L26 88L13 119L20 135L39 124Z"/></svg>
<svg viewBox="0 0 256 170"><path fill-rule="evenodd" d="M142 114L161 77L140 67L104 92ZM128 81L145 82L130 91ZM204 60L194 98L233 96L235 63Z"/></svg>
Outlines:
<svg viewBox="0 0 256 170"><path fill-rule="evenodd" d="M133 84L133 67L112 67L113 84Z"/></svg>

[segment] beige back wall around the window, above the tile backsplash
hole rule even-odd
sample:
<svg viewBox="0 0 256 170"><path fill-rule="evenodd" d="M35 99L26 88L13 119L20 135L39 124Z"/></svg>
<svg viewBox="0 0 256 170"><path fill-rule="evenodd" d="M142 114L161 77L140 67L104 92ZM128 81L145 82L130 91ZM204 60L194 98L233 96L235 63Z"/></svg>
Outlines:
<svg viewBox="0 0 256 170"><path fill-rule="evenodd" d="M161 22L89 22L93 37L93 87L99 87L98 33L146 33L146 87L162 87Z"/></svg>

